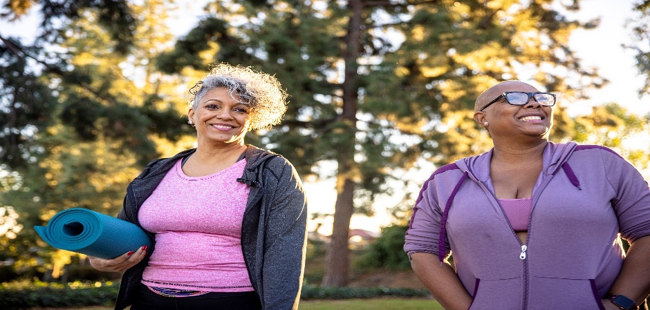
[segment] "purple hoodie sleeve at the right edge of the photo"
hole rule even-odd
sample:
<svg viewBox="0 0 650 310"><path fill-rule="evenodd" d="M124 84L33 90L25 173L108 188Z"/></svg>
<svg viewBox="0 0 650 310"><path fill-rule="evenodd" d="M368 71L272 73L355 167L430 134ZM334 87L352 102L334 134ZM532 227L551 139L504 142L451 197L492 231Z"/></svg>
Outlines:
<svg viewBox="0 0 650 310"><path fill-rule="evenodd" d="M600 152L606 177L616 193L612 201L621 237L628 242L650 235L650 188L639 171L613 152Z"/></svg>

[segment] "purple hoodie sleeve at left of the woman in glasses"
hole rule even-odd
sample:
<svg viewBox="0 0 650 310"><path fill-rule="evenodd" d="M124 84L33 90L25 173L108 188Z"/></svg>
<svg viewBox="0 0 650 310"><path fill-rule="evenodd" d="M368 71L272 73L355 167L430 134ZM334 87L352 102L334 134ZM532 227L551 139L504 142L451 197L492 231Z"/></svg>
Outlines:
<svg viewBox="0 0 650 310"><path fill-rule="evenodd" d="M413 209L411 224L405 236L404 251L411 257L416 252L425 252L438 255L438 238L440 236L440 220L443 211L438 206L436 199L436 182L430 179L425 183L420 197ZM449 242L445 243L445 257L449 254Z"/></svg>

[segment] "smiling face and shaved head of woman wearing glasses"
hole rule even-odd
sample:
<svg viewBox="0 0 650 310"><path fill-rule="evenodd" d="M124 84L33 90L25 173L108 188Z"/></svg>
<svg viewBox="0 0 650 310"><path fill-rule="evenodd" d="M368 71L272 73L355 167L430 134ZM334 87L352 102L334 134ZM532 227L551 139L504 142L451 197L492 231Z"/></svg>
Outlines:
<svg viewBox="0 0 650 310"><path fill-rule="evenodd" d="M498 137L540 137L548 139L553 126L553 107L542 106L530 98L523 106L513 106L501 98L494 104L486 106L494 98L507 91L537 92L537 88L522 81L505 81L486 90L476 100L474 119L484 126L493 139ZM485 125L485 123L488 125Z"/></svg>

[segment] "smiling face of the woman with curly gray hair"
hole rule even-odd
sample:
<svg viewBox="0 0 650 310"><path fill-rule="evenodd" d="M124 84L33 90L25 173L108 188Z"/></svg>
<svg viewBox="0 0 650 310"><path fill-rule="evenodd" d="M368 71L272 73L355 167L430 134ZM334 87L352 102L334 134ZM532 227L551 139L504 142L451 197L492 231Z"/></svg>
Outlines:
<svg viewBox="0 0 650 310"><path fill-rule="evenodd" d="M187 116L196 126L199 146L243 145L250 128L250 108L231 97L227 88L209 90Z"/></svg>

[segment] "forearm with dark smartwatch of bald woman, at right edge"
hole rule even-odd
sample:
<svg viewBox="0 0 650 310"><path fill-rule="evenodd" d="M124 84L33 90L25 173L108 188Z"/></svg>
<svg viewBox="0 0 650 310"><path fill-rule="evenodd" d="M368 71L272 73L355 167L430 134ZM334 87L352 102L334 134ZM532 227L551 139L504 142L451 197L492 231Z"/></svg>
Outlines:
<svg viewBox="0 0 650 310"><path fill-rule="evenodd" d="M650 293L650 236L631 244L618 278L609 293L624 295L639 304Z"/></svg>

